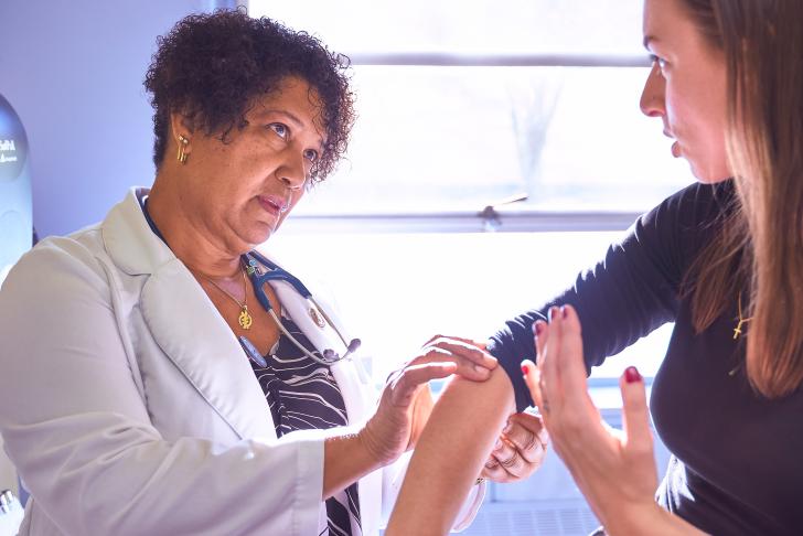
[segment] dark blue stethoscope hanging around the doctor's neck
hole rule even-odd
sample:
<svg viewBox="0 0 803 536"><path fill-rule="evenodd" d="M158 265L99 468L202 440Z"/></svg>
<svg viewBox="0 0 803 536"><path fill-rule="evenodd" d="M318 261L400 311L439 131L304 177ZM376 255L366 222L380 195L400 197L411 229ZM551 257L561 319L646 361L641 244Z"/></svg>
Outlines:
<svg viewBox="0 0 803 536"><path fill-rule="evenodd" d="M147 197L140 201L140 205L142 206L142 214L144 214L144 218L148 222L148 225L150 226L153 234L157 235L168 247L170 247L170 244L168 244L168 240L164 239L164 236L159 231L159 227L157 227L157 224L153 222L148 212ZM299 278L285 270L283 268L280 268L277 264L271 262L258 251L251 250L243 255L240 259L246 266L246 271L248 272L251 285L254 286L254 293L257 297L257 301L259 301L259 304L263 305L263 308L268 312L274 322L276 322L279 331L290 342L292 342L292 344L298 350L300 350L303 355L314 361L315 363L331 366L339 361L347 358L350 354L353 354L357 351L357 349L362 344L360 339L352 339L351 342L346 342L345 337L338 328L338 324L332 322L332 319L330 319L329 314L326 314L323 308L318 304L315 299L312 297L312 292L309 291L309 289L304 286L304 283L301 282ZM266 268L266 271L263 271L259 265L263 265L263 267ZM309 350L307 350L307 347L301 344L298 339L296 339L292 333L288 331L287 328L285 328L285 324L282 324L281 320L279 320L279 318L276 315L276 311L274 311L274 308L270 304L270 299L265 292L265 285L269 283L270 281L283 281L290 285L293 290L307 301L307 304L309 305L308 313L310 314L310 318L315 323L315 325L323 330L326 328L326 324L329 324L340 337L341 342L343 343L343 347L345 349L345 352L341 355L339 352L335 352L332 349L324 349L323 352L319 352L317 350L310 352ZM237 340L239 341L240 346L243 346L243 350L250 361L255 362L263 368L266 368L268 366L268 362L248 340L248 337L240 335L237 337Z"/></svg>

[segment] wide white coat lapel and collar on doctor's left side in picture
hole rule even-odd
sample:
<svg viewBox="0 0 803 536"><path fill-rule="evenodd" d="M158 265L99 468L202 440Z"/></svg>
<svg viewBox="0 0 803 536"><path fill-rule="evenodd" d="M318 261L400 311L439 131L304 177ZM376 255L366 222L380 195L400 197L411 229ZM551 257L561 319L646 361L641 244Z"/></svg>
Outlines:
<svg viewBox="0 0 803 536"><path fill-rule="evenodd" d="M231 329L186 267L153 234L132 189L101 225L106 250L130 276L147 276L142 317L154 341L240 438L275 438L270 410Z"/></svg>

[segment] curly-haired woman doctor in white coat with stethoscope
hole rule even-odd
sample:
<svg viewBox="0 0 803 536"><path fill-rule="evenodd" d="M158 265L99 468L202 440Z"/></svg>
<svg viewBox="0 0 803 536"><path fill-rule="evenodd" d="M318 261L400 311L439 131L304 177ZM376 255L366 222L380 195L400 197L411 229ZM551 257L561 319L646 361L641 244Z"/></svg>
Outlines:
<svg viewBox="0 0 803 536"><path fill-rule="evenodd" d="M153 187L41 243L0 292L0 432L32 493L21 534L376 534L426 383L484 380L496 362L435 339L377 408L358 342L254 250L345 150L340 56L239 11L193 15L146 87ZM538 420L510 424L486 470L500 480L543 454Z"/></svg>

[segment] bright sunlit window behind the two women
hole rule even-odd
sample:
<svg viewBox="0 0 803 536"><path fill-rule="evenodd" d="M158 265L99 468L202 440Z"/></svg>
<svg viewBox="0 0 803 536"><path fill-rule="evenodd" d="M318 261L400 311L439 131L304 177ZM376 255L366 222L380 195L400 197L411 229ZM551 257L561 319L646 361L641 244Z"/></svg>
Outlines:
<svg viewBox="0 0 803 536"><path fill-rule="evenodd" d="M352 58L360 117L347 159L271 247L315 267L377 380L433 333L485 337L554 296L692 181L639 110L639 0L249 10ZM654 374L667 336L659 330L595 376L631 363Z"/></svg>

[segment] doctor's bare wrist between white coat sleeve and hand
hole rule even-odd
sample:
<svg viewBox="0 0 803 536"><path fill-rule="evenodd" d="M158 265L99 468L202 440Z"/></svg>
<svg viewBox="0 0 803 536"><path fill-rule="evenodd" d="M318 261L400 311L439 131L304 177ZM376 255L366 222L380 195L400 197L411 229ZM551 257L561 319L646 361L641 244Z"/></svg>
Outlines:
<svg viewBox="0 0 803 536"><path fill-rule="evenodd" d="M326 438L323 446L323 499L331 497L381 467L383 463L366 448L360 433Z"/></svg>

